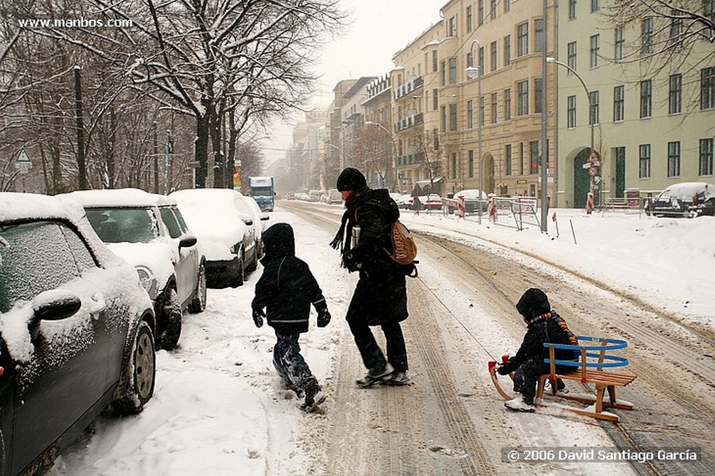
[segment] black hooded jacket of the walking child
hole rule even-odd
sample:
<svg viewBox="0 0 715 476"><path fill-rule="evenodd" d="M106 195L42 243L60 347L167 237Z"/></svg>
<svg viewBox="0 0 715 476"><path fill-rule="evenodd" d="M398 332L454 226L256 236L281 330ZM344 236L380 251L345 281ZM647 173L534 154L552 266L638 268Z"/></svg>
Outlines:
<svg viewBox="0 0 715 476"><path fill-rule="evenodd" d="M256 283L252 309L266 309L268 325L282 334L307 332L310 304L326 309L322 291L307 263L295 257L295 237L287 223L263 232L263 274Z"/></svg>

